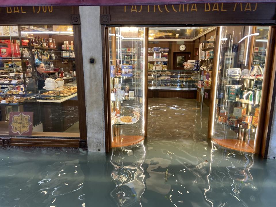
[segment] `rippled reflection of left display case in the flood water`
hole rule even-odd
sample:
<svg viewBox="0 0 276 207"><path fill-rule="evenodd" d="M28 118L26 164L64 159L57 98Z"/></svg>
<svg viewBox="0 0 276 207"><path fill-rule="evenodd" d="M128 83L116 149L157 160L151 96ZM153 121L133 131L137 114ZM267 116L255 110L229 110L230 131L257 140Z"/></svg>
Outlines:
<svg viewBox="0 0 276 207"><path fill-rule="evenodd" d="M129 147L114 148L110 163L114 166L111 177L116 187L110 196L118 206L141 205L141 196L145 191L144 169L141 167L145 159L144 141Z"/></svg>

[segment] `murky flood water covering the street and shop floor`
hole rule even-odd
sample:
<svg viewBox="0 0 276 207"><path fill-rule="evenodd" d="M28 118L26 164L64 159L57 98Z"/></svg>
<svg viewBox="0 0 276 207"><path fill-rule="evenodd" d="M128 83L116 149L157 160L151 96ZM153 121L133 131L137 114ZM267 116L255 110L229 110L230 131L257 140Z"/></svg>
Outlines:
<svg viewBox="0 0 276 207"><path fill-rule="evenodd" d="M207 140L194 107L149 99L147 139L108 154L0 148L0 207L276 206L276 160Z"/></svg>

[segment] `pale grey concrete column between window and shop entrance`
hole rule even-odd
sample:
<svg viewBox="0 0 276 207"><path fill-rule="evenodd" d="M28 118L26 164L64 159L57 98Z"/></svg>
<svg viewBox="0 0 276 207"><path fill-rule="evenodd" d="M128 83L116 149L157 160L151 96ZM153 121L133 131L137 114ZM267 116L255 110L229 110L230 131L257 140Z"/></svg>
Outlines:
<svg viewBox="0 0 276 207"><path fill-rule="evenodd" d="M99 6L80 6L88 150L105 152L104 91ZM90 64L90 58L95 64ZM83 92L83 91L80 91Z"/></svg>

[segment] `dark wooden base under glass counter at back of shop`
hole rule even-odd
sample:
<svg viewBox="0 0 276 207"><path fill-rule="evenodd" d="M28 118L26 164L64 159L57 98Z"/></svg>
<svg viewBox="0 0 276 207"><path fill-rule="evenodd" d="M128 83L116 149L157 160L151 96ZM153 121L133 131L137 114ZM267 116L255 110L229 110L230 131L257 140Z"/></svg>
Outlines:
<svg viewBox="0 0 276 207"><path fill-rule="evenodd" d="M147 97L150 98L196 98L196 90L177 91L177 90L147 90Z"/></svg>

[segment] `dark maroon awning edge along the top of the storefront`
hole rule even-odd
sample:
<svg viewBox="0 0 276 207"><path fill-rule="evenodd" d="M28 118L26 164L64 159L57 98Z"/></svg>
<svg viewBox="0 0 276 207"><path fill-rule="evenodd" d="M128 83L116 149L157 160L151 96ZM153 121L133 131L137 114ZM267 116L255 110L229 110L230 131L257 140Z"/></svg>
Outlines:
<svg viewBox="0 0 276 207"><path fill-rule="evenodd" d="M265 3L276 0L1 0L0 7L6 6L116 6L116 5L162 5L162 4L188 4L188 3Z"/></svg>

